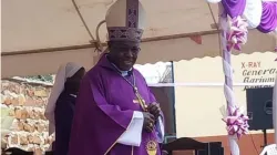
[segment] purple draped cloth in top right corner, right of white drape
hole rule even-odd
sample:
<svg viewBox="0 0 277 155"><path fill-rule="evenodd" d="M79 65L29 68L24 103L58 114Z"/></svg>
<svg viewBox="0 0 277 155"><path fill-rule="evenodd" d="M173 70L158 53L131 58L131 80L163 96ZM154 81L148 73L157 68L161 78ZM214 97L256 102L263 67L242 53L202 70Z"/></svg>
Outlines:
<svg viewBox="0 0 277 155"><path fill-rule="evenodd" d="M271 32L277 27L277 2L263 2L261 20L257 29L263 33Z"/></svg>

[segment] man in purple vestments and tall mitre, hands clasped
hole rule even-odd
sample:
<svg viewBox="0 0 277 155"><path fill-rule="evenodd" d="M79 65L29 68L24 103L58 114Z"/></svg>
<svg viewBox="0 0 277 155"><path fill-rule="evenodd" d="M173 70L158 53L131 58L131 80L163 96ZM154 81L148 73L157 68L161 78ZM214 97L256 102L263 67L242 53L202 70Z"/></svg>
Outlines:
<svg viewBox="0 0 277 155"><path fill-rule="evenodd" d="M117 0L109 9L109 53L82 80L69 155L161 155L163 114L133 68L144 18L138 0Z"/></svg>

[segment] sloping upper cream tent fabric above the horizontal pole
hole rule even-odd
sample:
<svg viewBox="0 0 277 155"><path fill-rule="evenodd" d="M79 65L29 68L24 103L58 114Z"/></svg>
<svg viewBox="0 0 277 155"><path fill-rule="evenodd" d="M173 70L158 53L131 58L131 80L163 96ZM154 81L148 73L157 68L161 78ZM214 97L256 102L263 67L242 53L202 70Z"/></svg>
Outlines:
<svg viewBox="0 0 277 155"><path fill-rule="evenodd" d="M86 24L95 29L115 0L75 0ZM212 30L205 0L141 0L147 13L144 38ZM212 4L217 17L217 4ZM102 41L106 38L101 28ZM88 44L89 37L71 0L2 0L2 51Z"/></svg>

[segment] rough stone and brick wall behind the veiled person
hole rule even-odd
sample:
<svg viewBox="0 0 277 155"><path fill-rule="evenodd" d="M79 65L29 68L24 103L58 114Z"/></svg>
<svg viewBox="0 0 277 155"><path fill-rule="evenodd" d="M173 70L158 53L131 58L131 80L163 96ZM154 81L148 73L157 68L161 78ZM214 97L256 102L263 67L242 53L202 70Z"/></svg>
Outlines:
<svg viewBox="0 0 277 155"><path fill-rule="evenodd" d="M2 147L45 151L53 141L44 117L51 84L22 80L1 81Z"/></svg>

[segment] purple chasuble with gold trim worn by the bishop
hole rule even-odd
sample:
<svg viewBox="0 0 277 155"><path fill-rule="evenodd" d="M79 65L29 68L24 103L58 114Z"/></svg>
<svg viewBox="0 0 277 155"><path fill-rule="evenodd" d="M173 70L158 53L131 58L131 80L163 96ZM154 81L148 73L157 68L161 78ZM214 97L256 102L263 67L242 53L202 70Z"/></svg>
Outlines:
<svg viewBox="0 0 277 155"><path fill-rule="evenodd" d="M135 84L146 103L155 102L145 79L133 70ZM131 78L130 78L131 79ZM134 111L141 111L133 87L107 61L105 54L82 80L76 99L69 155L148 155L146 144L154 141L161 155L156 133L142 132L140 147L119 144Z"/></svg>

